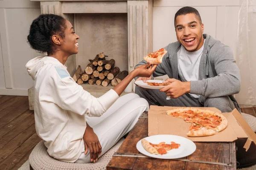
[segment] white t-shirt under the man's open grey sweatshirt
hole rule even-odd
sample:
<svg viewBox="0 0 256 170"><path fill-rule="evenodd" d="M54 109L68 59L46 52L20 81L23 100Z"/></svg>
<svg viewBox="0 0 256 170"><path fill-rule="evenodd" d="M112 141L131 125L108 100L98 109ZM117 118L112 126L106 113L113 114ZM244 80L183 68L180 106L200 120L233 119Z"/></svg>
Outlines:
<svg viewBox="0 0 256 170"><path fill-rule="evenodd" d="M178 51L177 57L178 57L179 76L183 82L198 80L199 64L200 64L203 50L204 50L204 44L198 51L194 51L194 52L186 51L183 45L181 45L181 48ZM190 94L190 96L196 99L200 97L200 95L198 94Z"/></svg>

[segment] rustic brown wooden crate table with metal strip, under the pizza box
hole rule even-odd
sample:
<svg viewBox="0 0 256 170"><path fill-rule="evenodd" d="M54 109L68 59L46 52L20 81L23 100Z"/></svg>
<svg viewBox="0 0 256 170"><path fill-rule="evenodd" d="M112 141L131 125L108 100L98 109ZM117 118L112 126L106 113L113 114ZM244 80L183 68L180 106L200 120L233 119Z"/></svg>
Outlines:
<svg viewBox="0 0 256 170"><path fill-rule="evenodd" d="M195 142L196 150L189 156L179 160L154 159L140 154L136 148L137 142L147 136L145 112L108 163L107 170L236 170L235 142Z"/></svg>

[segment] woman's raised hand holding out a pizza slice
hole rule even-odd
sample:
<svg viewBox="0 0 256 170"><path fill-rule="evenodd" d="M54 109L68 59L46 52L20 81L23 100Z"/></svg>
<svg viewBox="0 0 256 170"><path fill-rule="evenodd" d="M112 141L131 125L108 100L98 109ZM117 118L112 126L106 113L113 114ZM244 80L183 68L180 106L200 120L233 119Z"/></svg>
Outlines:
<svg viewBox="0 0 256 170"><path fill-rule="evenodd" d="M151 77L156 70L157 64L151 65L149 62L144 65L140 65L134 69L135 77Z"/></svg>

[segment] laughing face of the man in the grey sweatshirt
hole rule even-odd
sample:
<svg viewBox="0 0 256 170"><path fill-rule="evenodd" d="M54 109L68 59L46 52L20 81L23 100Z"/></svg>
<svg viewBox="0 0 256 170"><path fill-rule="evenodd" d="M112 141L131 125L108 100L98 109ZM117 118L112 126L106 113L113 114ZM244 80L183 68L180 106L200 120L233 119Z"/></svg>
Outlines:
<svg viewBox="0 0 256 170"><path fill-rule="evenodd" d="M175 21L177 40L186 51L198 51L204 44L204 24L195 14L179 15Z"/></svg>

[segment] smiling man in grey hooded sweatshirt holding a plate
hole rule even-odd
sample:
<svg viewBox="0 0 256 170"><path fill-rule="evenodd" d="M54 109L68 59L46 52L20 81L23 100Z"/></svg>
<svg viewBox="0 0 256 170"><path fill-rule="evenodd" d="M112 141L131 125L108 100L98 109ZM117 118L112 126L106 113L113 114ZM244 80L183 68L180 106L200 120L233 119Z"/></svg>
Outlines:
<svg viewBox="0 0 256 170"><path fill-rule="evenodd" d="M233 94L240 91L240 73L230 47L203 34L204 24L195 8L183 7L175 14L177 42L157 65L153 77L168 75L170 85L160 89L142 89L135 93L149 105L215 107L221 112L240 111ZM135 66L145 64L145 60ZM137 80L152 79L139 77ZM166 99L169 96L169 100Z"/></svg>

